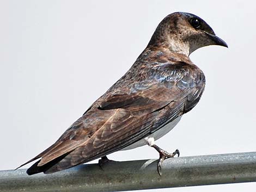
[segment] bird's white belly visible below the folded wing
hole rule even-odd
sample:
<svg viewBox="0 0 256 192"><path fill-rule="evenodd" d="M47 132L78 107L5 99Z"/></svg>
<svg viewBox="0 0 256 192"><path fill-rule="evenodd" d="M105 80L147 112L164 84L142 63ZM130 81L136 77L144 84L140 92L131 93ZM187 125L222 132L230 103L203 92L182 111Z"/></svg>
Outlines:
<svg viewBox="0 0 256 192"><path fill-rule="evenodd" d="M163 135L168 133L170 130L173 129L173 127L175 127L177 125L177 123L180 121L180 119L181 119L181 116L177 117L175 120L173 120L172 122L169 122L167 125L163 126L161 129L157 130L156 132L152 133L151 135L148 135L147 138L154 138L155 140L157 140L157 139L163 137ZM143 138L143 139L137 141L136 143L123 148L121 151L131 150L132 148L141 147L141 146L147 145L147 144L148 144L147 140Z"/></svg>

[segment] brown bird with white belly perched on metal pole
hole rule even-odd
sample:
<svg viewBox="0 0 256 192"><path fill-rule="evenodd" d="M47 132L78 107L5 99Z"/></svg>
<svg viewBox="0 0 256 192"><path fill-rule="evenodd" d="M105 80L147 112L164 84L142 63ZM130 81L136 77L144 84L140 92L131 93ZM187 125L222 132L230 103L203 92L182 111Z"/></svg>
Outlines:
<svg viewBox="0 0 256 192"><path fill-rule="evenodd" d="M60 138L28 162L28 175L51 174L116 151L149 145L164 159L179 156L155 144L199 102L205 76L189 55L198 48L228 47L202 18L176 12L156 27L131 68L99 97ZM21 167L19 166L19 168ZM18 168L17 168L18 169Z"/></svg>

